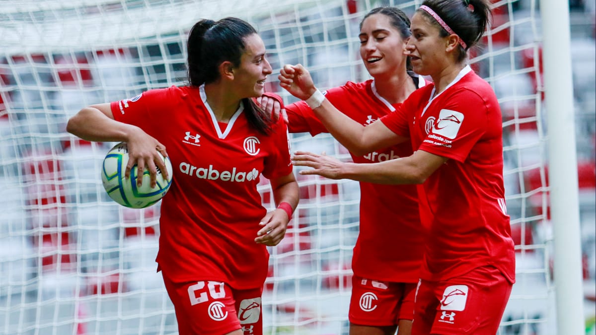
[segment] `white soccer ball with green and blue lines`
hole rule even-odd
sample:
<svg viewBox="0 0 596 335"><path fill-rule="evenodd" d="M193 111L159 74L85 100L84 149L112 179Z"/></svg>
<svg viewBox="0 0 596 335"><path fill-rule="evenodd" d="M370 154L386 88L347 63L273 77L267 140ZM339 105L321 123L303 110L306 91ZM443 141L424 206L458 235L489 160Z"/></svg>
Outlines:
<svg viewBox="0 0 596 335"><path fill-rule="evenodd" d="M161 156L161 154L160 154ZM162 156L162 158L164 158ZM112 200L122 206L131 208L144 208L157 203L167 192L172 184L172 163L169 158L164 158L167 168L168 180L163 178L162 171L157 168L157 184L151 187L149 170L143 171L142 185L136 185L136 164L131 169L131 176L126 179L124 176L126 164L128 164L128 146L126 142L120 142L105 155L101 168L101 182L105 191Z"/></svg>

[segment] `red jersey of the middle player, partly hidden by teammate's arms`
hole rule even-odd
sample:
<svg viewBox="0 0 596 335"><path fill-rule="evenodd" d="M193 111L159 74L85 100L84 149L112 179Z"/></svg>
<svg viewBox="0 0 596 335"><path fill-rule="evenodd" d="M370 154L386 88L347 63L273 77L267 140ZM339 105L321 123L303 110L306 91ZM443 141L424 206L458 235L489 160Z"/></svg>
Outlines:
<svg viewBox="0 0 596 335"><path fill-rule="evenodd" d="M420 85L425 83L420 78ZM365 126L399 106L378 95L372 79L329 89L325 98ZM290 132L310 132L313 136L328 132L304 101L285 106L285 110ZM352 160L375 163L411 154L411 144L406 142L365 156L352 154ZM360 182L360 194L360 232L352 257L354 274L374 280L417 283L424 240L416 186Z"/></svg>

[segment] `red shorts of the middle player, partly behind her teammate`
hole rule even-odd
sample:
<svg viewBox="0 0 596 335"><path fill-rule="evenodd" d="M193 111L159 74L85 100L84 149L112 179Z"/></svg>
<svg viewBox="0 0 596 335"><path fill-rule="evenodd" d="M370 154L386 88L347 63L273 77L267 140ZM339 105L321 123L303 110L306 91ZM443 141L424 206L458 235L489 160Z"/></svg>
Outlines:
<svg viewBox="0 0 596 335"><path fill-rule="evenodd" d="M352 277L350 322L358 325L397 325L400 319L412 320L416 284L375 281Z"/></svg>

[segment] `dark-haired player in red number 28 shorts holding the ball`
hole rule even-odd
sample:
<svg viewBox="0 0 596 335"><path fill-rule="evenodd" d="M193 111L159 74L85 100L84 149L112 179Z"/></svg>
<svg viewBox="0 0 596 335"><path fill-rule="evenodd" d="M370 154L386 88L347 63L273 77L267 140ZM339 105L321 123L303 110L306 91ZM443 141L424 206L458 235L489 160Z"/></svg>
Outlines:
<svg viewBox="0 0 596 335"><path fill-rule="evenodd" d="M126 174L147 167L152 184L167 147L174 176L157 263L180 334L262 334L266 246L280 243L299 197L285 123L253 101L271 73L250 24L200 20L188 36L187 86L89 106L67 125L89 141L128 142ZM278 204L269 213L260 175Z"/></svg>

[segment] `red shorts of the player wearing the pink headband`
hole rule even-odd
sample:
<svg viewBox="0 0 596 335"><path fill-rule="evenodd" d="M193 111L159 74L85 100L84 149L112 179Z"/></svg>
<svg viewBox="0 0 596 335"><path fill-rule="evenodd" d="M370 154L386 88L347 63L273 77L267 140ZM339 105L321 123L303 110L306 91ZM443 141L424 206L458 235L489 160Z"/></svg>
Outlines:
<svg viewBox="0 0 596 335"><path fill-rule="evenodd" d="M421 280L412 335L496 334L512 286L493 266L446 281Z"/></svg>

